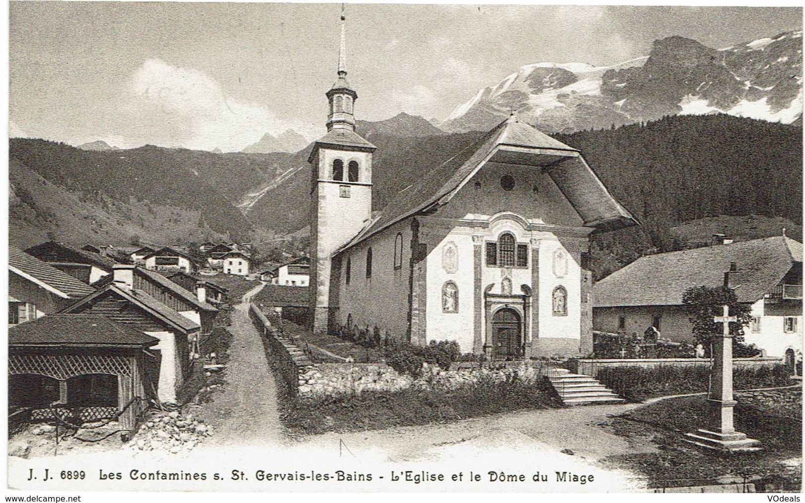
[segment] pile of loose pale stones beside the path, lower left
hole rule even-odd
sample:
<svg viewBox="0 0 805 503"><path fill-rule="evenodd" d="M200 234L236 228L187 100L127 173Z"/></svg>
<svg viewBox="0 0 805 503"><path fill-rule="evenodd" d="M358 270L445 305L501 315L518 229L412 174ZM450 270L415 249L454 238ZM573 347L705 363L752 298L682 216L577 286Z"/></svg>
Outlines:
<svg viewBox="0 0 805 503"><path fill-rule="evenodd" d="M164 451L183 454L191 451L204 437L213 435L213 427L192 414L156 412L142 424L129 447L138 451Z"/></svg>

